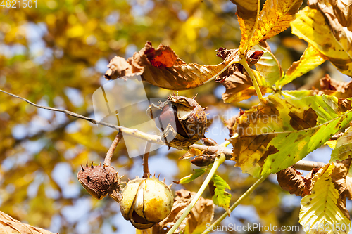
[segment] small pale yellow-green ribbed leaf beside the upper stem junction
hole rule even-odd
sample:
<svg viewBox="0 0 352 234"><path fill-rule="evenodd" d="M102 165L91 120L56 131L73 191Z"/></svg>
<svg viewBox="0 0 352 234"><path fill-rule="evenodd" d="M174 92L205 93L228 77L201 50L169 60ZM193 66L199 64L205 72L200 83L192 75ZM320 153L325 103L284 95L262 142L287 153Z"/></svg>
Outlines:
<svg viewBox="0 0 352 234"><path fill-rule="evenodd" d="M267 83L265 86L272 86L282 78L282 74L284 73L279 61L277 61L275 56L263 46L253 46L253 50L264 52L263 56L260 57L255 66L260 75L265 78L265 82Z"/></svg>

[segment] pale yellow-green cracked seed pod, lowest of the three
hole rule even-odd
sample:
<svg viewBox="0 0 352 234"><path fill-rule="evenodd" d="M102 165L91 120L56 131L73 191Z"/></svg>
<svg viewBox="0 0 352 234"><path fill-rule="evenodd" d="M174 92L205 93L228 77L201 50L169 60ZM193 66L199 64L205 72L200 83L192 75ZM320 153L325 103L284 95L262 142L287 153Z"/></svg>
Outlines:
<svg viewBox="0 0 352 234"><path fill-rule="evenodd" d="M137 229L151 228L171 212L174 197L158 178L136 178L122 192L120 211Z"/></svg>

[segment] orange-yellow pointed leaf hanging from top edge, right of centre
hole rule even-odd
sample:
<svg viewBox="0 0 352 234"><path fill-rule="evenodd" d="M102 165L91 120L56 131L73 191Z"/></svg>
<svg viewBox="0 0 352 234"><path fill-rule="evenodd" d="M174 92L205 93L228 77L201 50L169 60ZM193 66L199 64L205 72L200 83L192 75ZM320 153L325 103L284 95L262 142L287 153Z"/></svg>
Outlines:
<svg viewBox="0 0 352 234"><path fill-rule="evenodd" d="M267 0L259 12L259 1L232 0L237 5L241 29L239 51L244 53L259 43L279 34L289 27L303 0Z"/></svg>

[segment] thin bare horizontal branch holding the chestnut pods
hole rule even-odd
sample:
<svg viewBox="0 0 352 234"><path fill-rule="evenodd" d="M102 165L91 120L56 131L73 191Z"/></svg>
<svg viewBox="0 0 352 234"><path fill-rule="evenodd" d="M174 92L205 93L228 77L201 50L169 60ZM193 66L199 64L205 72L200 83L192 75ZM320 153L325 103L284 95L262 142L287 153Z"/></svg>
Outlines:
<svg viewBox="0 0 352 234"><path fill-rule="evenodd" d="M27 100L25 98L21 98L20 96L17 96L12 93L8 93L8 92L3 91L1 89L0 89L0 92L6 93L7 95L13 96L14 98L19 98L20 100L24 100L25 102L29 103L30 105L34 105L36 108L42 108L45 110L52 110L52 111L56 111L56 112L63 112L66 115L70 115L70 116L73 116L73 117L76 117L79 119L87 120L87 121L91 122L92 124L99 124L102 126L108 126L111 129L115 129L116 131L120 131L120 132L122 132L122 134L126 134L128 136L134 136L135 138L139 138L139 139L142 139L142 140L150 142L150 143L156 143L158 145L165 145L165 143L163 142L163 140L161 139L160 136L146 134L146 133L139 131L137 129L129 129L124 126L117 126L115 124L109 124L109 123L102 122L102 121L96 121L95 119L85 117L83 115L79 115L79 114L77 114L75 112L71 112L69 110L61 110L61 109L57 109L57 108L50 108L50 107L46 107L46 106L42 106L42 105L37 105L35 103L32 103L30 100ZM207 146L207 145L193 144L193 145L189 146L189 148L187 148L187 147L174 147L174 148L176 148L177 150L189 150L189 148L195 148L195 149L206 152L206 154L208 154L208 155L215 155L213 157L214 160L215 160L215 157L217 155L220 155L221 153L223 153L225 155L226 160L231 160L231 158L232 158L232 150L229 148L226 148L224 146L221 146L221 145ZM293 166L299 170L310 171L313 168L322 167L324 165L325 164L322 162L299 161L299 162L296 162L296 164L294 164Z"/></svg>

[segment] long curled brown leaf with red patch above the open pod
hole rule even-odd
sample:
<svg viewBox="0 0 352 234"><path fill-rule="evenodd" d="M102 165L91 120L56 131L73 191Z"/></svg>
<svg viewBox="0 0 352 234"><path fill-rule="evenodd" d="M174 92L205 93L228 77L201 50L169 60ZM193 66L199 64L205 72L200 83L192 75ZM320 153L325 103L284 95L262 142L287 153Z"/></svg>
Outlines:
<svg viewBox="0 0 352 234"><path fill-rule="evenodd" d="M230 61L229 61L230 63ZM199 65L184 63L170 46L160 44L153 48L147 41L144 48L127 60L115 56L109 63L106 79L141 75L150 84L172 90L193 89L217 77L225 70L227 63Z"/></svg>

